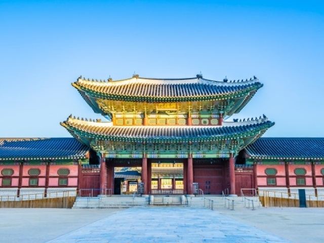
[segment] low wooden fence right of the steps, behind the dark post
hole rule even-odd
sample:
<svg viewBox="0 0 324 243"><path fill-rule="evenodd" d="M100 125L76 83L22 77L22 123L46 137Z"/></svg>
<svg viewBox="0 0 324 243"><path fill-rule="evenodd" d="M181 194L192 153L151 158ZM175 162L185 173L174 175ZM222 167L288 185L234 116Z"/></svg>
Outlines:
<svg viewBox="0 0 324 243"><path fill-rule="evenodd" d="M299 207L299 194L259 190L263 207ZM324 208L324 195L306 195L307 208Z"/></svg>

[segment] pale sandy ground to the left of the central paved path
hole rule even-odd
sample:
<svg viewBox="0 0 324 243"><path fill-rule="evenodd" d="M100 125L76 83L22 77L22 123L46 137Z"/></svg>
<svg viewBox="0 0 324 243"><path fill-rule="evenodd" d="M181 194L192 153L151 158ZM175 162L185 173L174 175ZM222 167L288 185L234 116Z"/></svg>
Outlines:
<svg viewBox="0 0 324 243"><path fill-rule="evenodd" d="M44 243L124 209L0 209L0 243Z"/></svg>

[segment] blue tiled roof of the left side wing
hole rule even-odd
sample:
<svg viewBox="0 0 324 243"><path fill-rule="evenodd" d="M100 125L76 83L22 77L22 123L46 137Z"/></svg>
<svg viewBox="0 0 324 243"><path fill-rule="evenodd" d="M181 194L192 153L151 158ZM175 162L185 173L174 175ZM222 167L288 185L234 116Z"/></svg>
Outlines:
<svg viewBox="0 0 324 243"><path fill-rule="evenodd" d="M74 138L0 138L0 159L85 158L89 147Z"/></svg>

